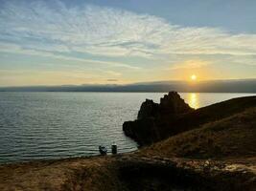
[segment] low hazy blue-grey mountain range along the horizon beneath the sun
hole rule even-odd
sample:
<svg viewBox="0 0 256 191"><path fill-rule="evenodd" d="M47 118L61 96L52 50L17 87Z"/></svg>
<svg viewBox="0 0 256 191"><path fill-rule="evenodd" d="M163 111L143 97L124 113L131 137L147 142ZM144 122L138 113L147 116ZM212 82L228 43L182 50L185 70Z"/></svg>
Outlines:
<svg viewBox="0 0 256 191"><path fill-rule="evenodd" d="M256 93L256 79L207 81L154 81L126 85L63 85L2 87L0 92L198 92L198 93Z"/></svg>

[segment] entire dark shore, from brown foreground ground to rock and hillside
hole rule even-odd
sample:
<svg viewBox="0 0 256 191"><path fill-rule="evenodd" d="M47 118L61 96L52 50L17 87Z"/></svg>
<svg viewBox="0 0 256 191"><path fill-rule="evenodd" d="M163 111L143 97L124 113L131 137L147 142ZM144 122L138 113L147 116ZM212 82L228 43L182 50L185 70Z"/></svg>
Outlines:
<svg viewBox="0 0 256 191"><path fill-rule="evenodd" d="M138 151L0 165L0 190L256 190L256 96L194 110L171 92L123 128Z"/></svg>

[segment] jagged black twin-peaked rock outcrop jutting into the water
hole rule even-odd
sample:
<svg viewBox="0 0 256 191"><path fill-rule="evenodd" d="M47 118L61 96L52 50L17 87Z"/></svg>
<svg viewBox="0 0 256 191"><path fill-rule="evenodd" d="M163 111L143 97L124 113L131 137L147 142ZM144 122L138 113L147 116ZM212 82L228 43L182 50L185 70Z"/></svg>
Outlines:
<svg viewBox="0 0 256 191"><path fill-rule="evenodd" d="M194 109L176 92L170 92L160 99L160 104L146 99L140 107L137 119L125 122L123 130L128 137L134 138L140 145L150 144L163 138L158 127L165 121L164 118L174 118L192 111Z"/></svg>

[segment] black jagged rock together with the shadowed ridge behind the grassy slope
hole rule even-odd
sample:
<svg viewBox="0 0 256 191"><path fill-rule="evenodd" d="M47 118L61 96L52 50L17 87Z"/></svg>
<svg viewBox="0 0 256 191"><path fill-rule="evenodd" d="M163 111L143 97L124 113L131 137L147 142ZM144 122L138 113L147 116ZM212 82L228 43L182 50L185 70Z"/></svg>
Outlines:
<svg viewBox="0 0 256 191"><path fill-rule="evenodd" d="M125 122L123 130L140 146L149 145L255 106L256 96L247 96L194 110L176 92L170 92L160 99L159 104L146 99L137 119Z"/></svg>

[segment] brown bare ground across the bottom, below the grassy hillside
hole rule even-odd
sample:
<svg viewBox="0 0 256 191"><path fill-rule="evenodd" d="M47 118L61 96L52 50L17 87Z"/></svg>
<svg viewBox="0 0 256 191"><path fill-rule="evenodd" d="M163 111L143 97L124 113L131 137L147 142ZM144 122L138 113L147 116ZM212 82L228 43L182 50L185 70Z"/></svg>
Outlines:
<svg viewBox="0 0 256 191"><path fill-rule="evenodd" d="M149 158L135 153L0 167L0 190L255 190L255 186L256 158Z"/></svg>

